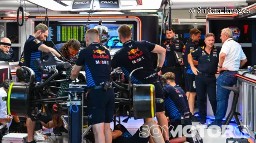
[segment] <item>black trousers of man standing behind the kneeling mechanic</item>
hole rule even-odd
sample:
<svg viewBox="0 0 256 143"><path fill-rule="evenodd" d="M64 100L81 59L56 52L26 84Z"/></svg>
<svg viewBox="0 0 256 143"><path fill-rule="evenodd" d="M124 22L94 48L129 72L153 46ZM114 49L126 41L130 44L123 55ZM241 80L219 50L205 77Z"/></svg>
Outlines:
<svg viewBox="0 0 256 143"><path fill-rule="evenodd" d="M176 85L181 84L181 75L182 75L182 68L181 67L163 67L162 68L162 75L166 72L173 72L175 74L175 83Z"/></svg>

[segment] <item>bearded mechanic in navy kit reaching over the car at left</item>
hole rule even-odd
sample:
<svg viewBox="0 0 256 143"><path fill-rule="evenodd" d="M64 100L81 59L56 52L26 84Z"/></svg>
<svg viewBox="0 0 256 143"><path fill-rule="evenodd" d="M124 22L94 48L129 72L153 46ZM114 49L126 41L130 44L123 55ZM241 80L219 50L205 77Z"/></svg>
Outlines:
<svg viewBox="0 0 256 143"><path fill-rule="evenodd" d="M37 70L37 67L34 63L34 60L37 58L41 58L42 52L48 53L52 52L56 55L56 57L60 58L61 55L58 54L57 51L55 51L51 47L47 47L42 42L46 41L46 37L48 36L49 29L45 24L38 24L35 27L35 31L32 35L30 35L27 39L27 41L24 44L24 63L23 65L26 67L31 68L35 74L36 74L36 82L41 82L41 72ZM27 130L28 130L28 137L27 142L36 142L33 138L34 130L35 130L36 122L28 118L27 119Z"/></svg>

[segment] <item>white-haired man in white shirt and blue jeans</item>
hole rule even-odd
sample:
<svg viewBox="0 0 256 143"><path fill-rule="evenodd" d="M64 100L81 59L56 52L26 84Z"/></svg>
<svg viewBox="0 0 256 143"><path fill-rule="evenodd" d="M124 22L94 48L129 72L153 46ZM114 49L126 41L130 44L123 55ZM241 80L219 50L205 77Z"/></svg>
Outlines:
<svg viewBox="0 0 256 143"><path fill-rule="evenodd" d="M243 67L247 62L241 45L233 40L232 30L224 28L221 30L220 39L223 43L219 56L219 77L217 79L217 111L215 120L212 124L221 127L221 121L226 115L228 109L228 99L230 90L223 88L222 86L233 87L237 82L236 74L240 67Z"/></svg>

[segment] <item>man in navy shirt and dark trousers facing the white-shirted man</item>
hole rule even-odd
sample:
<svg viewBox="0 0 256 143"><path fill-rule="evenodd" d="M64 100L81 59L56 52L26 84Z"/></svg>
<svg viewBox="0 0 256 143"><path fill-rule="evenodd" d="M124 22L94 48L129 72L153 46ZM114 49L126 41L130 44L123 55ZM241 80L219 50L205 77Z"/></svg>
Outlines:
<svg viewBox="0 0 256 143"><path fill-rule="evenodd" d="M216 114L216 72L218 70L220 47L214 46L213 33L205 34L205 45L198 47L188 55L191 70L195 76L196 98L201 117L199 125L206 124L205 92L208 94L213 114ZM193 57L198 57L198 67L193 63Z"/></svg>

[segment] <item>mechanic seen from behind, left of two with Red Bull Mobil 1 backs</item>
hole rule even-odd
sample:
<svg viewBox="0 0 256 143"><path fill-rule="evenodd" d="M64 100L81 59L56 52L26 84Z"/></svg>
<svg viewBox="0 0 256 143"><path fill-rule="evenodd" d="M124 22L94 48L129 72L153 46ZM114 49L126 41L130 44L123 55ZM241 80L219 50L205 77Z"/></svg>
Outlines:
<svg viewBox="0 0 256 143"><path fill-rule="evenodd" d="M85 66L88 105L88 121L92 125L96 143L112 142L110 122L114 114L115 96L110 84L111 57L110 52L100 44L99 31L89 29L86 32L87 48L81 50L76 65L71 72L71 80L75 80Z"/></svg>

